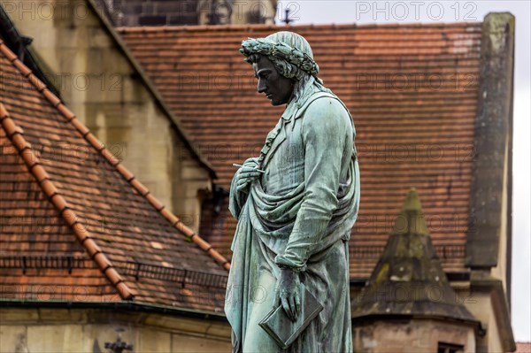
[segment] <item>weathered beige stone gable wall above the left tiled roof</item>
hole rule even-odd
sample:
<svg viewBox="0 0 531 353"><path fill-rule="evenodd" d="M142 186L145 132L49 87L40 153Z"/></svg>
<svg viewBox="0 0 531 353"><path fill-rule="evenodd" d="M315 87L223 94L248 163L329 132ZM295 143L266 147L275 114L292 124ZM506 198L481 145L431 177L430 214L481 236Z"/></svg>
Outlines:
<svg viewBox="0 0 531 353"><path fill-rule="evenodd" d="M65 104L166 208L196 231L202 198L212 189L210 172L112 29L86 1L2 3L19 32L34 38L31 48Z"/></svg>

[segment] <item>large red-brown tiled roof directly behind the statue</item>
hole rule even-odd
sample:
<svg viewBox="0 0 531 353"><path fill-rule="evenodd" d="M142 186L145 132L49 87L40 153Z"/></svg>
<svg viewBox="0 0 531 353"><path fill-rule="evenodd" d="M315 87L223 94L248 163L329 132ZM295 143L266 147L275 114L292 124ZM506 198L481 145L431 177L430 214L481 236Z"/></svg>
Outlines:
<svg viewBox="0 0 531 353"><path fill-rule="evenodd" d="M258 156L282 111L258 95L237 50L247 37L284 29L311 43L319 76L356 123L362 194L351 277L370 274L411 187L425 200L445 271L466 271L481 23L128 27L119 33L228 188L232 164ZM209 241L229 257L235 223L229 219L221 229L210 217L204 219L214 223L203 229L212 230Z"/></svg>

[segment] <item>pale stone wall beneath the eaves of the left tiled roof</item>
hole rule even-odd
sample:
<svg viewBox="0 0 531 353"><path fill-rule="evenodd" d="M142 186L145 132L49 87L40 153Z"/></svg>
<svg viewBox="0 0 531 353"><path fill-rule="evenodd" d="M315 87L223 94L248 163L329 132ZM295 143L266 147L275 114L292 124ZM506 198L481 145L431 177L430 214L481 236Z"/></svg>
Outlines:
<svg viewBox="0 0 531 353"><path fill-rule="evenodd" d="M1 308L0 353L105 352L121 340L135 352L228 352L230 326L219 320L112 309Z"/></svg>

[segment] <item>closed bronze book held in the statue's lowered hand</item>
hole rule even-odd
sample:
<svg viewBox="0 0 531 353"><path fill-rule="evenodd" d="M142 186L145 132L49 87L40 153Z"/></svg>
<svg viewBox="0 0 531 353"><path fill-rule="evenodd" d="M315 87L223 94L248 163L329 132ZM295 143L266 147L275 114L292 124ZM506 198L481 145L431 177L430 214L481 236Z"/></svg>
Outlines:
<svg viewBox="0 0 531 353"><path fill-rule="evenodd" d="M281 349L288 349L304 329L319 315L323 306L301 283L301 312L296 321L291 321L282 305L267 313L266 318L258 323Z"/></svg>

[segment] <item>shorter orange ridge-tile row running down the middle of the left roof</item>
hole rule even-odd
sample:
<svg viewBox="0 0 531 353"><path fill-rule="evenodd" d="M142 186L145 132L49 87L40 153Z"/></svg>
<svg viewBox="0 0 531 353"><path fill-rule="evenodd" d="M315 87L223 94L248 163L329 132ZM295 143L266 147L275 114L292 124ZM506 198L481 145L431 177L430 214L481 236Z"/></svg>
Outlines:
<svg viewBox="0 0 531 353"><path fill-rule="evenodd" d="M6 54L4 48L6 48L4 43L0 42L0 50ZM58 188L56 188L53 181L50 180L50 175L46 173L46 170L39 161L39 158L35 155L35 152L31 147L31 143L27 142L24 138L24 131L22 127L19 127L15 123L2 103L0 103L0 125L4 127L7 138L19 151L19 155L22 157L22 160L24 160L29 173L35 177L39 187L42 188L44 194L48 196L50 202L59 211L59 216L65 219L68 226L72 228L73 234L75 234L78 241L81 242L83 248L87 250L90 259L96 262L96 265L98 265L100 270L104 273L104 276L111 281L112 285L117 289L122 299L133 300L135 295L133 295L131 289L127 287L127 284L119 275L119 272L116 271L116 268L112 265L112 262L105 256L102 249L97 246L86 227L76 226L80 223L78 221L77 215L68 207L68 203L66 203L65 198L59 193Z"/></svg>

